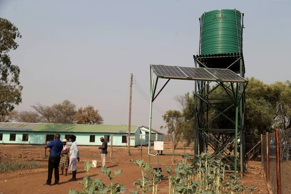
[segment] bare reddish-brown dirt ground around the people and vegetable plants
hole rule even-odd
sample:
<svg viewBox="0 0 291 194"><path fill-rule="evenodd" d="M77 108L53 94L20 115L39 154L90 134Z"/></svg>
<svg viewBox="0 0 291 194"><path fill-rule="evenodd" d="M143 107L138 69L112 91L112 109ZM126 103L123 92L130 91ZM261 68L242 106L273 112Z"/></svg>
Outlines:
<svg viewBox="0 0 291 194"><path fill-rule="evenodd" d="M68 172L68 176L60 175L60 184L52 185L50 187L43 186L46 183L48 176L48 158L45 158L45 154L49 155L49 149L45 150L43 146L33 146L33 145L0 145L0 156L5 156L10 158L13 162L29 162L37 161L42 164L41 167L25 169L25 170L15 170L0 172L0 194L57 194L58 192L62 194L67 194L69 188L81 191L81 184L78 182L86 176L84 170L84 162L92 160L97 160L97 167L92 167L89 172L89 176L92 179L101 178L103 182L108 185L108 178L100 173L100 154L96 146L78 146L80 150L81 161L77 163L77 181L68 181L72 177L72 173ZM128 156L128 150L124 147L119 147L118 149L109 148L109 154L107 155L106 166L113 170L122 169L122 174L117 175L114 182L119 182L128 188L128 191L136 189L133 186L133 182L138 178L141 178L141 171L136 164L129 162L130 159L140 160L145 159L148 162L147 148L130 148L130 156ZM137 154L138 153L138 154ZM139 154L141 153L141 154ZM157 159L150 159L151 166L162 167L164 173L163 180L159 182L158 194L168 194L168 180L164 168L168 166L171 161L164 161L161 157ZM173 160L173 158L170 158ZM181 160L179 157L175 157L174 162ZM172 161L173 162L173 161ZM165 164L164 164L165 163ZM52 178L52 183L54 181L54 176ZM267 187L261 162L248 162L247 172L242 176L241 182L245 186L257 187L254 194L269 194L269 189ZM137 189L136 189L137 190ZM245 192L247 193L247 192Z"/></svg>

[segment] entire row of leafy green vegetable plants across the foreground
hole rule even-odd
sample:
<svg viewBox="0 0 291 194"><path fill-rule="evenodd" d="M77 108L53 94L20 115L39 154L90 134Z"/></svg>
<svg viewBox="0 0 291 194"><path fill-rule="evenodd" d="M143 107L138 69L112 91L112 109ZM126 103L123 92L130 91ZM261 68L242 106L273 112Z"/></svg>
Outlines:
<svg viewBox="0 0 291 194"><path fill-rule="evenodd" d="M193 159L188 155L182 156L183 160L173 166L168 166L165 171L168 174L169 194L245 194L246 191L252 194L255 187L247 187L239 183L240 178L233 174L227 176L226 169L229 165L223 162L222 157L214 157L210 153L202 153ZM133 182L138 190L130 194L158 194L158 184L163 179L162 171L152 170L151 166L144 160L130 160L141 169L141 178ZM107 175L110 184L106 185L100 178L94 180L89 177L89 170L92 164L84 162L84 169L87 172L81 184L82 191L70 189L69 194L118 194L127 191L127 188L120 183L115 183L116 175L122 170L114 170L113 175L110 168L101 167L100 172Z"/></svg>

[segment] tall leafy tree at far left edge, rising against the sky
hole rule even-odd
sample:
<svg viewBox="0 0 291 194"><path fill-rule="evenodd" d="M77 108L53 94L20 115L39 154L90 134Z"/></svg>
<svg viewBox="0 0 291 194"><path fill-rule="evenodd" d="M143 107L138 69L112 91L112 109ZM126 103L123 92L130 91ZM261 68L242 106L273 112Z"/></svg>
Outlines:
<svg viewBox="0 0 291 194"><path fill-rule="evenodd" d="M20 69L13 65L9 51L15 50L21 38L18 28L10 21L0 18L0 115L8 115L21 102L22 86L19 82Z"/></svg>

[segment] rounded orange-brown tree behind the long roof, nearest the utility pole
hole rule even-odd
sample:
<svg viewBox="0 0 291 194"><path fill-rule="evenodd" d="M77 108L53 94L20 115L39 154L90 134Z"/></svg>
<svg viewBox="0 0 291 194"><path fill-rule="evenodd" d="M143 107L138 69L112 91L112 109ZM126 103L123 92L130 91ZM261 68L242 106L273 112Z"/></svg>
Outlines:
<svg viewBox="0 0 291 194"><path fill-rule="evenodd" d="M102 125L103 118L98 110L94 110L93 106L87 106L84 109L82 107L78 109L78 112L74 117L74 122L77 124Z"/></svg>

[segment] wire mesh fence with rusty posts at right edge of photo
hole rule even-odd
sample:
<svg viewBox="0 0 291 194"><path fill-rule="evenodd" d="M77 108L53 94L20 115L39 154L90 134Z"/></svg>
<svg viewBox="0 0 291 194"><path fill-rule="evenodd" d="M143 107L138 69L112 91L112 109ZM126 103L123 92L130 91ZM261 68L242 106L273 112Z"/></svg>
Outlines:
<svg viewBox="0 0 291 194"><path fill-rule="evenodd" d="M273 194L291 194L291 129L262 135L262 164Z"/></svg>

